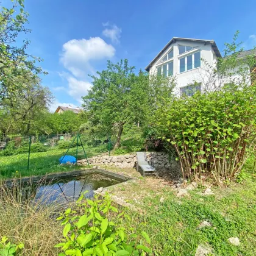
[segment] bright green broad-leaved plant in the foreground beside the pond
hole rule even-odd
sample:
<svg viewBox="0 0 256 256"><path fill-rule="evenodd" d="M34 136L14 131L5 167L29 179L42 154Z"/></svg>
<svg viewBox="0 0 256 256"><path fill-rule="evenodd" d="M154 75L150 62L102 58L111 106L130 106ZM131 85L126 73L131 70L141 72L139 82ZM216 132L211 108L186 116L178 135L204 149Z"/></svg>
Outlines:
<svg viewBox="0 0 256 256"><path fill-rule="evenodd" d="M126 229L124 222L131 221L124 212L113 207L108 195L100 199L77 200L79 211L68 208L57 220L62 220L65 254L59 255L145 255L151 253L149 247L137 243L137 233L133 228ZM119 214L118 214L119 213ZM141 233L144 241L151 244L146 232Z"/></svg>

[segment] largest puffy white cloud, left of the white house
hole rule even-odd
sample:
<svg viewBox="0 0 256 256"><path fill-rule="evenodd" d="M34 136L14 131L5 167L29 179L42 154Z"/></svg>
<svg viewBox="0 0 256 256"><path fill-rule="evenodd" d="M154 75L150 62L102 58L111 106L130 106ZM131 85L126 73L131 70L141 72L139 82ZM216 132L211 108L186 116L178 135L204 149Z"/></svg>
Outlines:
<svg viewBox="0 0 256 256"><path fill-rule="evenodd" d="M112 58L115 48L100 37L70 40L63 44L60 62L75 77L85 77L94 72L92 62Z"/></svg>

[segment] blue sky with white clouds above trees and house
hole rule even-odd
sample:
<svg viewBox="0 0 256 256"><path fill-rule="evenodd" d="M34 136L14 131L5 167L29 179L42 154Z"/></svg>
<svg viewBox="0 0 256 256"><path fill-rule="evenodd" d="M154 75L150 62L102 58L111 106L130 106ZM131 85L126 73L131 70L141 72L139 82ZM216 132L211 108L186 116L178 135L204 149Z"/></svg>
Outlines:
<svg viewBox="0 0 256 256"><path fill-rule="evenodd" d="M7 0L4 0L6 2ZM58 105L78 107L107 60L144 68L172 37L215 40L222 52L236 30L244 49L256 45L256 1L25 0L28 52L44 61Z"/></svg>

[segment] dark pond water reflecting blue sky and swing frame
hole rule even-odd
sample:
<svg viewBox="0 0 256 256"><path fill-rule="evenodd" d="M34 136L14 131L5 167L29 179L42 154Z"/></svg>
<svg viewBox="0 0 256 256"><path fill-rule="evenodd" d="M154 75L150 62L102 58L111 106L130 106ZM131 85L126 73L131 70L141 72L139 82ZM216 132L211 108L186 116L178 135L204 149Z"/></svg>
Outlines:
<svg viewBox="0 0 256 256"><path fill-rule="evenodd" d="M39 204L49 204L52 202L76 201L85 191L85 197L92 197L94 190L100 187L109 187L120 183L120 181L109 178L102 174L87 174L69 179L51 180L37 183L25 183L22 186L16 185L12 190L16 190L16 196L22 196L24 200L34 201Z"/></svg>

